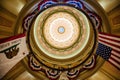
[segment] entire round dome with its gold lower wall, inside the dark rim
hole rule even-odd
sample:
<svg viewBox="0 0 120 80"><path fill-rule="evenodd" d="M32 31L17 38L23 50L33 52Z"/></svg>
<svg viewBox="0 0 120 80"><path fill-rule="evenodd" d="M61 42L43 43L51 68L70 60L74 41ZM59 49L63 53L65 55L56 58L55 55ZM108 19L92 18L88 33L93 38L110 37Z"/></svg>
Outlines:
<svg viewBox="0 0 120 80"><path fill-rule="evenodd" d="M32 50L36 48L36 57L51 68L53 63L59 65L56 69L76 61L79 62L69 68L81 64L91 55L95 44L89 19L71 6L57 5L42 11L33 22L30 34L30 46Z"/></svg>

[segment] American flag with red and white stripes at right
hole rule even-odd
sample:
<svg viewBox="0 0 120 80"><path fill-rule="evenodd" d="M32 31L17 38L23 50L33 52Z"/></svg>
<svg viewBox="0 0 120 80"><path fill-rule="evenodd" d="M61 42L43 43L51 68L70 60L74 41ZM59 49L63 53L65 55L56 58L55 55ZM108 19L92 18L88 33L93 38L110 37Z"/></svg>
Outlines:
<svg viewBox="0 0 120 80"><path fill-rule="evenodd" d="M97 55L120 70L120 36L99 33Z"/></svg>

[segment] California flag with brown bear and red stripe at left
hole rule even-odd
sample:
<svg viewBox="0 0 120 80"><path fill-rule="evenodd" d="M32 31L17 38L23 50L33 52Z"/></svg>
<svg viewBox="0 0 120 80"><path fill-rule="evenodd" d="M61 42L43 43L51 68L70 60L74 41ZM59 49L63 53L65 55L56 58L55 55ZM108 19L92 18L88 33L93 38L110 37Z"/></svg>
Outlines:
<svg viewBox="0 0 120 80"><path fill-rule="evenodd" d="M28 53L25 33L0 39L0 79Z"/></svg>

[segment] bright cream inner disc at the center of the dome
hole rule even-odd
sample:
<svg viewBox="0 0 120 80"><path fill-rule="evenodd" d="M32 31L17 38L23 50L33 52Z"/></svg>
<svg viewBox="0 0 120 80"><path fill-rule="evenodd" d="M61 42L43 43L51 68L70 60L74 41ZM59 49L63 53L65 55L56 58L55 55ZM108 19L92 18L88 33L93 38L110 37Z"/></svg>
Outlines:
<svg viewBox="0 0 120 80"><path fill-rule="evenodd" d="M65 31L61 34L58 32L58 29L59 31ZM79 31L79 25L73 16L68 13L59 12L54 13L46 20L43 33L48 44L58 49L64 49L76 42Z"/></svg>

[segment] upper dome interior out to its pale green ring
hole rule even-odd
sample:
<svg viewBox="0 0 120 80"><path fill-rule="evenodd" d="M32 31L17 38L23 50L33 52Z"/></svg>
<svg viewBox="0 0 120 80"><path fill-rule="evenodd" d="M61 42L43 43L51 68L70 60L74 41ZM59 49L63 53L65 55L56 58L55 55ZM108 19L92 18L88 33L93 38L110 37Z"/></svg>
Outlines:
<svg viewBox="0 0 120 80"><path fill-rule="evenodd" d="M83 13L72 7L57 6L39 14L32 33L38 47L46 55L66 59L77 55L86 46L93 31L90 26ZM58 31L60 27L64 33Z"/></svg>

